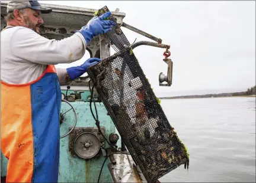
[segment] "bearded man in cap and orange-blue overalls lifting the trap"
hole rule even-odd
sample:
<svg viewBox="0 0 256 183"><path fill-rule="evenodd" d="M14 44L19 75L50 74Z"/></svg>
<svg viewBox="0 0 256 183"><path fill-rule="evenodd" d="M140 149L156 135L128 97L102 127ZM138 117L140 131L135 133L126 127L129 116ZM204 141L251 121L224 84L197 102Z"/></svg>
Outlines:
<svg viewBox="0 0 256 183"><path fill-rule="evenodd" d="M8 158L7 182L57 182L59 169L59 82L76 79L97 64L89 58L71 68L85 54L93 37L111 30L94 17L79 31L60 41L41 37L41 14L52 12L37 1L10 1L7 27L1 32L1 151Z"/></svg>

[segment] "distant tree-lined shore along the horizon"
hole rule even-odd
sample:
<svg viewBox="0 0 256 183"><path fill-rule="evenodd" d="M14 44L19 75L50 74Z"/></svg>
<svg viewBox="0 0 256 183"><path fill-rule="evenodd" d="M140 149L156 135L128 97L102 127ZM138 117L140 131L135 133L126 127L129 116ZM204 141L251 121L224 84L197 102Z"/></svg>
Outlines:
<svg viewBox="0 0 256 183"><path fill-rule="evenodd" d="M233 97L233 96L254 96L256 95L256 86L248 88L245 92L234 93L217 93L217 94L202 94L177 97L159 97L159 99L191 99L191 98L209 98L209 97Z"/></svg>

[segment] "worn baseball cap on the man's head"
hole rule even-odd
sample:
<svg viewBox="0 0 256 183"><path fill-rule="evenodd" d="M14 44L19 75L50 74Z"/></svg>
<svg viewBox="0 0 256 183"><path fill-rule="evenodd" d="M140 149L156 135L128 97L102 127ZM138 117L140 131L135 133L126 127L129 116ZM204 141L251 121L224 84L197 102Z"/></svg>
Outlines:
<svg viewBox="0 0 256 183"><path fill-rule="evenodd" d="M51 8L43 7L37 1L10 1L7 4L7 12L14 11L14 9L24 9L24 8L31 8L40 10L42 14L49 14L52 12Z"/></svg>

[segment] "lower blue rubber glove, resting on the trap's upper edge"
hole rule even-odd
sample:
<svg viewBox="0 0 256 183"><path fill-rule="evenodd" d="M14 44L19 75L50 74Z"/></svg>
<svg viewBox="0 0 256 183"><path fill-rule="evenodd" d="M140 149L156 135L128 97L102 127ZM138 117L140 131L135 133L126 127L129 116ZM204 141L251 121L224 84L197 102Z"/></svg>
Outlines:
<svg viewBox="0 0 256 183"><path fill-rule="evenodd" d="M95 64L97 64L100 61L101 61L100 58L89 58L81 66L69 67L66 70L67 70L71 80L74 80L74 79L78 78L79 76L82 76L82 74L84 74L87 71L87 68L89 66L94 66Z"/></svg>

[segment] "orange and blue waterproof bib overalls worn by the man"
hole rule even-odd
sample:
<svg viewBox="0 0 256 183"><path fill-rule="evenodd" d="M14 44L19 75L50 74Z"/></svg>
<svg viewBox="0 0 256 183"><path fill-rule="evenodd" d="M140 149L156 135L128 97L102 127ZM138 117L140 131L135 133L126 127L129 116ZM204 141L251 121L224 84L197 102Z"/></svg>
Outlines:
<svg viewBox="0 0 256 183"><path fill-rule="evenodd" d="M60 105L55 66L31 83L1 81L1 151L8 159L7 182L57 182Z"/></svg>

